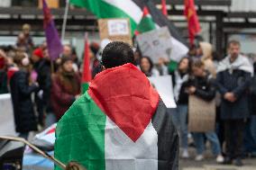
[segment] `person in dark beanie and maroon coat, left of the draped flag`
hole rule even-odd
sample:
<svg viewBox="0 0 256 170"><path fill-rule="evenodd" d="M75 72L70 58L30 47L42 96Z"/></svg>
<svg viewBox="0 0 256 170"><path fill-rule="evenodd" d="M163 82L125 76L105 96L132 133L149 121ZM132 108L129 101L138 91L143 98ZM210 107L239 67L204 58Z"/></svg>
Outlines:
<svg viewBox="0 0 256 170"><path fill-rule="evenodd" d="M57 121L80 94L80 77L73 69L73 59L62 57L59 71L51 79L50 102Z"/></svg>

